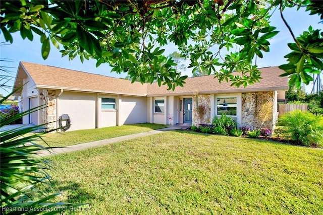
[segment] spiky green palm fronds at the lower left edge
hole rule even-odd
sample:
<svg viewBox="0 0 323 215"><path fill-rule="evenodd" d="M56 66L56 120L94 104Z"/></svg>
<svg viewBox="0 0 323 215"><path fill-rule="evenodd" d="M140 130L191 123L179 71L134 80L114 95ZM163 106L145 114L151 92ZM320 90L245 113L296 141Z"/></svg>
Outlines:
<svg viewBox="0 0 323 215"><path fill-rule="evenodd" d="M1 104L9 96L2 98ZM41 135L53 130L47 130L45 124L7 130L5 128L6 125L38 109L39 107L33 108L9 117L0 116L2 214L54 214L66 211L67 206L78 206L55 202L54 198L61 193L48 194L41 190L44 186L52 186L49 172L53 170L53 163L37 155L37 151L48 150L49 147L37 145L35 141L44 141ZM45 131L30 133L39 130Z"/></svg>

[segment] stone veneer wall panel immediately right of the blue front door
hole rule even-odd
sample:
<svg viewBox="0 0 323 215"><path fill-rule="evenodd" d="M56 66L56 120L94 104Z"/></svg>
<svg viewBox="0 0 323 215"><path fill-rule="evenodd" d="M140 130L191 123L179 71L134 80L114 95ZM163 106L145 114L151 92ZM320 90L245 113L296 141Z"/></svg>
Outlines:
<svg viewBox="0 0 323 215"><path fill-rule="evenodd" d="M192 119L192 124L209 124L211 123L211 101L210 101L210 96L209 95L198 95L198 104L203 104L204 107L206 108L206 113L204 117L200 120L197 111L196 111L196 101L193 96L193 119Z"/></svg>

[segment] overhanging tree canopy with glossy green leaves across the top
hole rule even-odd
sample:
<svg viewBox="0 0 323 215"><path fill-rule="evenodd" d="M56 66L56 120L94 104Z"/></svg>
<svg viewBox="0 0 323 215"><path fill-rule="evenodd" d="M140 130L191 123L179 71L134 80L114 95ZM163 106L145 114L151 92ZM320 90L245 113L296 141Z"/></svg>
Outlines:
<svg viewBox="0 0 323 215"><path fill-rule="evenodd" d="M163 47L174 43L189 67L215 74L234 86L261 79L253 63L270 51L269 39L278 34L271 26L273 10L279 10L294 43L281 65L290 84L308 84L311 74L323 69L323 33L309 26L295 37L284 18L284 9L305 7L323 20L323 2L303 0L128 0L128 1L1 1L1 30L7 41L19 31L23 39L41 38L41 54L50 47L63 56L81 61L89 58L109 63L117 73L126 72L135 81L157 80L169 89L183 86L187 76L174 68ZM62 48L63 47L63 48ZM216 50L216 51L214 51ZM222 51L223 50L223 51ZM220 68L220 69L219 69ZM233 75L234 71L240 73Z"/></svg>

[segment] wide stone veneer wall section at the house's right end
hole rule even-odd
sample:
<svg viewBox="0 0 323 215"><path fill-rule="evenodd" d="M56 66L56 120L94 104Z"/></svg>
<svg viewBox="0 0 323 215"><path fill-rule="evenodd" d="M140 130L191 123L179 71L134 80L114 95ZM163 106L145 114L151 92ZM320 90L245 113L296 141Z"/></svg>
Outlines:
<svg viewBox="0 0 323 215"><path fill-rule="evenodd" d="M273 128L273 117L261 125L256 119L256 111L260 111L262 104L266 101L274 103L274 92L242 93L242 126L252 130L261 127ZM273 116L274 108L271 110Z"/></svg>

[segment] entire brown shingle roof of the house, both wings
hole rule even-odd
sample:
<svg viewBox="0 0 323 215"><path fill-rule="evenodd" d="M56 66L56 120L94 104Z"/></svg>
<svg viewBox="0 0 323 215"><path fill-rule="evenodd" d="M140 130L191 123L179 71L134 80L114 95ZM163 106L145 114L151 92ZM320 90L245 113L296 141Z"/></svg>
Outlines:
<svg viewBox="0 0 323 215"><path fill-rule="evenodd" d="M20 62L15 87L21 85L17 80L25 77L24 70L27 71L30 78L34 81L36 88L121 95L164 96L192 95L194 92L206 94L288 90L288 78L279 77L283 73L283 70L278 68L278 66L260 68L259 70L262 72L260 83L248 85L246 88L243 86L239 88L231 87L231 83L227 82L219 84L219 81L211 75L188 78L185 80L186 84L184 84L184 87L177 87L175 91L168 91L166 85L158 87L157 83L141 84L135 82L131 84L129 80L30 62Z"/></svg>

